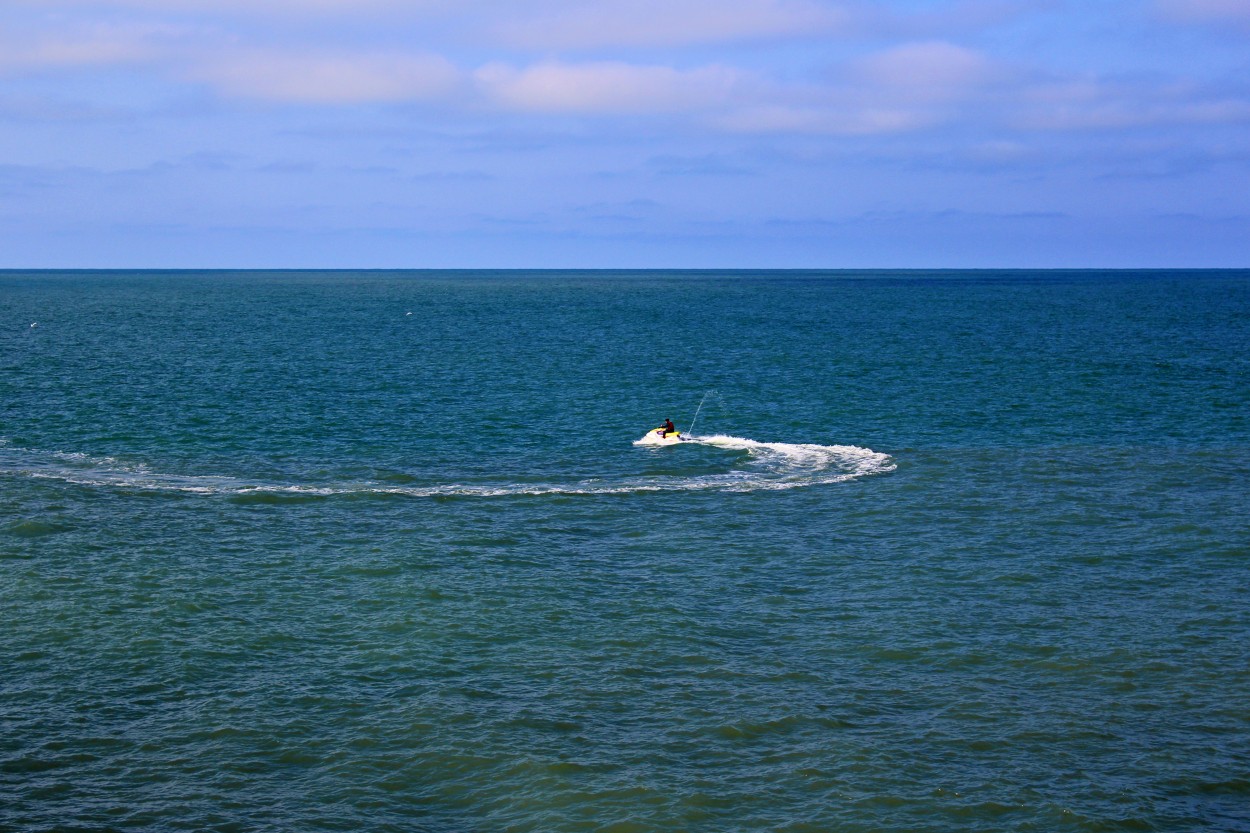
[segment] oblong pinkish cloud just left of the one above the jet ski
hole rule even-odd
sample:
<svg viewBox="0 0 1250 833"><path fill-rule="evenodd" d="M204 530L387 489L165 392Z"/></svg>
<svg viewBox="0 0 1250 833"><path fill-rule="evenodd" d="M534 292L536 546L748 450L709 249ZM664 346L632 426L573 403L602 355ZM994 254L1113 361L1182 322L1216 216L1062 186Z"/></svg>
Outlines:
<svg viewBox="0 0 1250 833"><path fill-rule="evenodd" d="M192 70L220 93L300 104L414 101L446 95L460 71L438 55L239 51Z"/></svg>

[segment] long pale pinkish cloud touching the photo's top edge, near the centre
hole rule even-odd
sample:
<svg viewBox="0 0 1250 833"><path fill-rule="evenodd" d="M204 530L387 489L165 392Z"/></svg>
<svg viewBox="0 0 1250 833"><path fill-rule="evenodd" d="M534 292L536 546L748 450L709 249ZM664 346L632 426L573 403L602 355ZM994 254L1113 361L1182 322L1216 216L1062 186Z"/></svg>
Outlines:
<svg viewBox="0 0 1250 833"><path fill-rule="evenodd" d="M812 0L581 0L504 15L498 36L536 49L678 46L828 34L848 15Z"/></svg>

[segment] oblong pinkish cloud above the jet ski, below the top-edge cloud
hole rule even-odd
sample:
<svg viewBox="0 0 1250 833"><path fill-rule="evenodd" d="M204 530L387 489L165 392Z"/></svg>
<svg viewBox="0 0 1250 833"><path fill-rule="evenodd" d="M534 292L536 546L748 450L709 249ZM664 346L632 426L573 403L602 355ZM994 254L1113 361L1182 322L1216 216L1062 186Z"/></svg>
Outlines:
<svg viewBox="0 0 1250 833"><path fill-rule="evenodd" d="M488 100L530 113L646 114L704 110L728 103L742 75L724 66L676 70L621 63L526 69L489 64L476 73Z"/></svg>

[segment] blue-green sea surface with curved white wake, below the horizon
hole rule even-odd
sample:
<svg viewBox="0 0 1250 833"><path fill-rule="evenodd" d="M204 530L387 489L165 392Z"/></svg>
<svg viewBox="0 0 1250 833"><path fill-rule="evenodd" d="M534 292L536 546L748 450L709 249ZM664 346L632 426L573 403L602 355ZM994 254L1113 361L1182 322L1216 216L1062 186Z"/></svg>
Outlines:
<svg viewBox="0 0 1250 833"><path fill-rule="evenodd" d="M0 612L4 830L1248 830L1250 273L0 273Z"/></svg>

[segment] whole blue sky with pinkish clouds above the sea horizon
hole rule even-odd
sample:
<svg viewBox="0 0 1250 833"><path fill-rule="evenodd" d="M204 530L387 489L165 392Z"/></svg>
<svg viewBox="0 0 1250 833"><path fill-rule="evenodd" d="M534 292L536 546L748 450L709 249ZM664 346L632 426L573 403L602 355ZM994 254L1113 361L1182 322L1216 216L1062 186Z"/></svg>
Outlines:
<svg viewBox="0 0 1250 833"><path fill-rule="evenodd" d="M1246 268L1250 0L0 0L0 268Z"/></svg>

